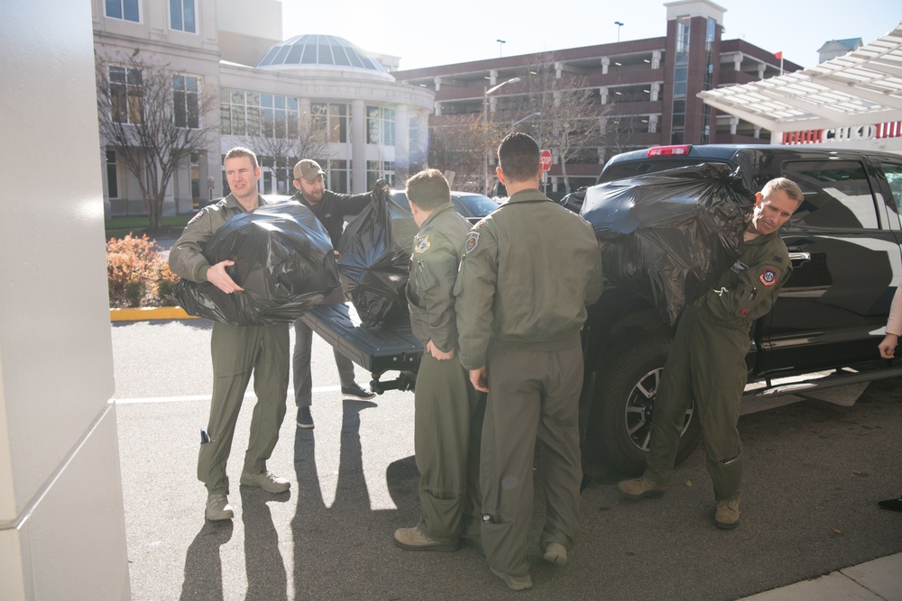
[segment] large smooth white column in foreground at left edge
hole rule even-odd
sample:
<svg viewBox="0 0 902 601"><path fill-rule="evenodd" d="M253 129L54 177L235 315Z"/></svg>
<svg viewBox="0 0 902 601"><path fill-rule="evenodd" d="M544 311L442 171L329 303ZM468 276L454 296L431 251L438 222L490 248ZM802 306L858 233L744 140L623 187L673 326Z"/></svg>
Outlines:
<svg viewBox="0 0 902 601"><path fill-rule="evenodd" d="M128 557L109 298L103 185L97 161L97 90L91 6L32 0L5 4L16 26L0 38L0 164L47 164L47 141L65 140L64 168L41 187L65 202L34 219L8 202L0 220L0 599L129 599ZM52 60L47 49L54 48ZM46 82L64 94L48 94ZM101 142L102 143L102 142ZM34 196L11 178L10 198ZM65 241L65 257L59 244ZM65 260L52 278L35 266ZM64 291L62 293L61 291ZM200 509L198 508L198 511Z"/></svg>

